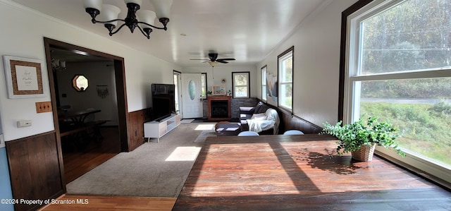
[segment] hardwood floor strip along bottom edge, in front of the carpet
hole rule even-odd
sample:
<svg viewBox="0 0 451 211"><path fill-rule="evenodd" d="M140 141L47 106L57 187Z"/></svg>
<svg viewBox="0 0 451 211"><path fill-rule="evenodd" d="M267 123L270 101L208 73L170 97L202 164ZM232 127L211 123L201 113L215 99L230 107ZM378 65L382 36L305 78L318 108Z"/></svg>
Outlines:
<svg viewBox="0 0 451 211"><path fill-rule="evenodd" d="M171 210L177 198L98 196L98 195L63 195L56 202L43 207L44 211L86 210L86 211L119 211L119 210ZM66 204L62 204L66 203ZM69 204L70 203L70 204Z"/></svg>

